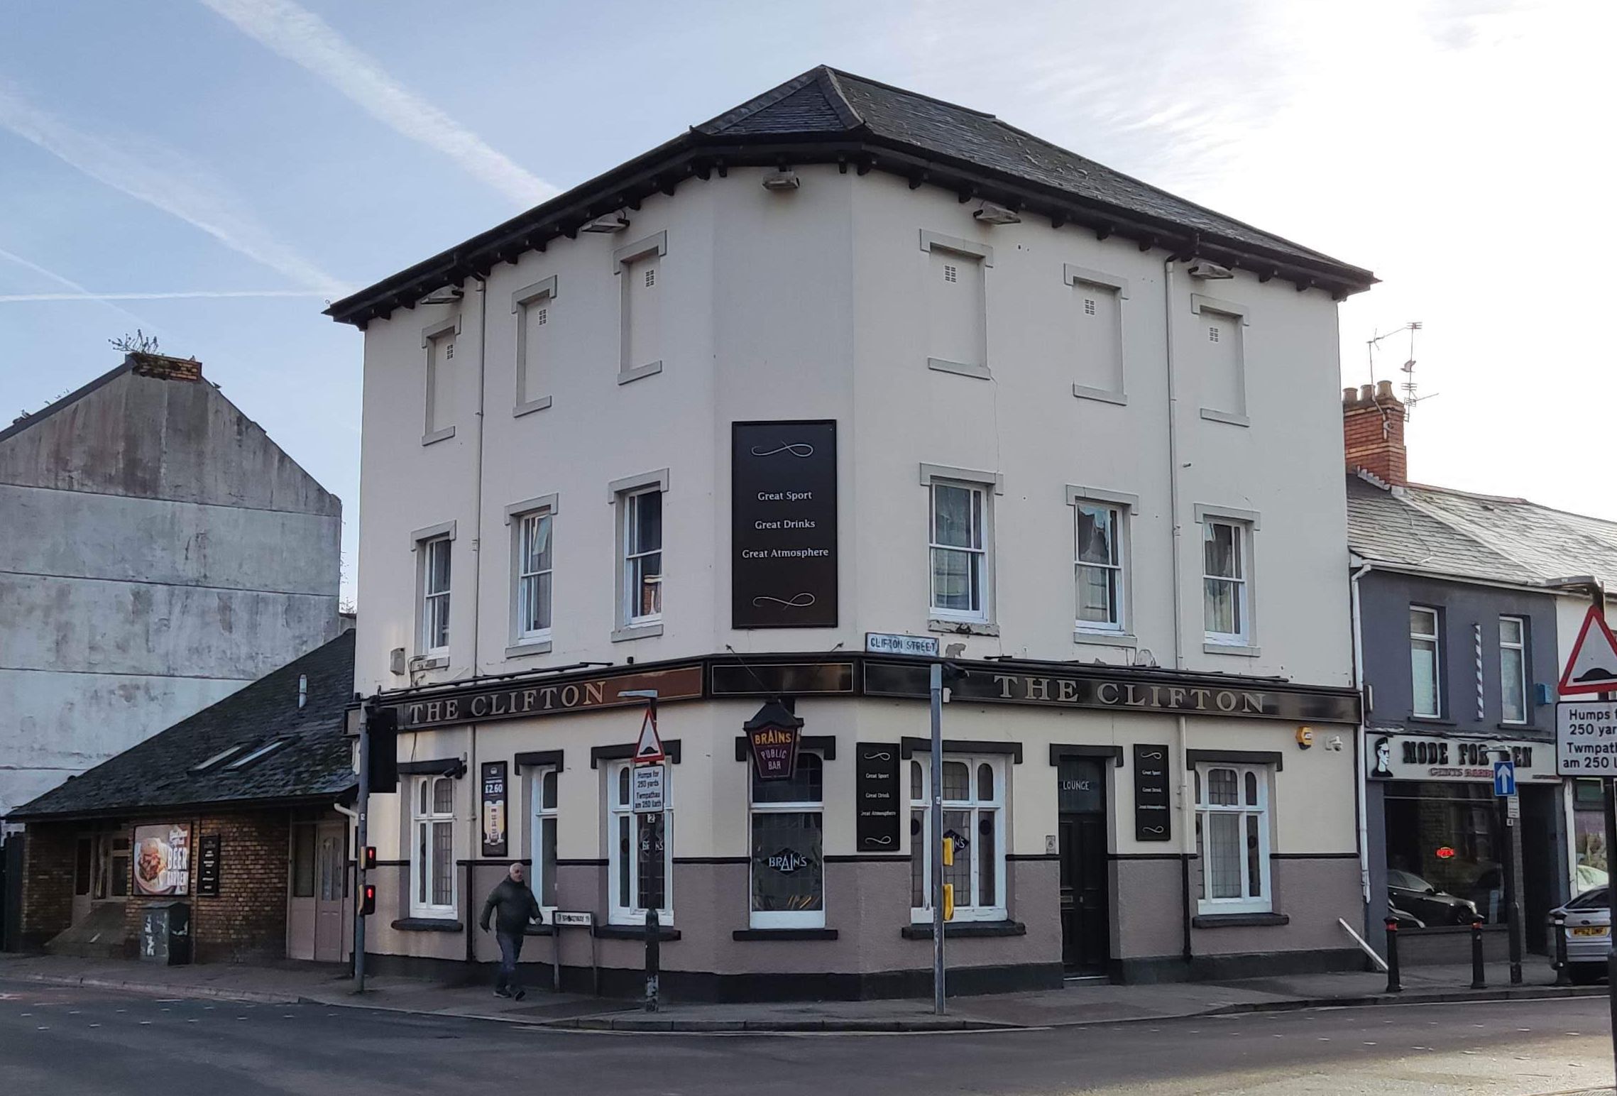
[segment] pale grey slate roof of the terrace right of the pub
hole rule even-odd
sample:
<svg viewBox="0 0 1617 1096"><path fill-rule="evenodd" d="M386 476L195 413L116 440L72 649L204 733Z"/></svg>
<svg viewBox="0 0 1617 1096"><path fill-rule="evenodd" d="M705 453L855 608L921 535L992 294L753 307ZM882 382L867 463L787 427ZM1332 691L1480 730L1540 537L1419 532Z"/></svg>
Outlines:
<svg viewBox="0 0 1617 1096"><path fill-rule="evenodd" d="M1525 498L1387 488L1350 472L1347 538L1373 564L1514 585L1594 575L1617 590L1617 522Z"/></svg>

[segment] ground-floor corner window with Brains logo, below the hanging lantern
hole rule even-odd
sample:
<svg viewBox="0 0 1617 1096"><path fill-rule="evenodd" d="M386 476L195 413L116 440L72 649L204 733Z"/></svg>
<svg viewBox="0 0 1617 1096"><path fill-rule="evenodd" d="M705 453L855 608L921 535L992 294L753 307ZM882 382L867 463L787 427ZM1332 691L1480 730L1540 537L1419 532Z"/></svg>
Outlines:
<svg viewBox="0 0 1617 1096"><path fill-rule="evenodd" d="M823 778L807 752L786 781L752 769L752 928L825 926Z"/></svg>

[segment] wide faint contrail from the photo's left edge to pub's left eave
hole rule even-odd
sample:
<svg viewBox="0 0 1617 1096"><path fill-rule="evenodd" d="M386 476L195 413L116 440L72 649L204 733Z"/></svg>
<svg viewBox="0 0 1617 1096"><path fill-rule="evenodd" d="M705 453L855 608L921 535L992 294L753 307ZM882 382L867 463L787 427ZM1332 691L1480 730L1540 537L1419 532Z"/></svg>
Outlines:
<svg viewBox="0 0 1617 1096"><path fill-rule="evenodd" d="M293 281L340 294L343 285L285 246L247 212L222 181L184 154L133 136L99 137L74 129L0 82L0 129L73 165L121 194L171 213Z"/></svg>

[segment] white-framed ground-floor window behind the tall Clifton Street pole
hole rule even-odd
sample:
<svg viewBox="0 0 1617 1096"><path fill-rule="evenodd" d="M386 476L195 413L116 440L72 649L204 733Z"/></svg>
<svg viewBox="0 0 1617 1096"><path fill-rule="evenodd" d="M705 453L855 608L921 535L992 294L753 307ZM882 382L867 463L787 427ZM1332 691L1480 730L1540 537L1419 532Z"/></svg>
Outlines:
<svg viewBox="0 0 1617 1096"><path fill-rule="evenodd" d="M943 837L954 863L943 881L954 886L956 921L1006 920L1004 757L943 757L943 837L931 833L930 758L910 760L910 918L931 920L931 862Z"/></svg>

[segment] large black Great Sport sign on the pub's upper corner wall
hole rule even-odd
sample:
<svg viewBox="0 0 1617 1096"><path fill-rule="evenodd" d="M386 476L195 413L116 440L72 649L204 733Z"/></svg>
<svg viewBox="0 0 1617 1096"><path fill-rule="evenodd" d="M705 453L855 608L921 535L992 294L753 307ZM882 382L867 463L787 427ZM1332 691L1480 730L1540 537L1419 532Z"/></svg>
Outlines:
<svg viewBox="0 0 1617 1096"><path fill-rule="evenodd" d="M731 427L731 627L836 627L836 420Z"/></svg>

